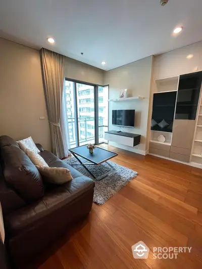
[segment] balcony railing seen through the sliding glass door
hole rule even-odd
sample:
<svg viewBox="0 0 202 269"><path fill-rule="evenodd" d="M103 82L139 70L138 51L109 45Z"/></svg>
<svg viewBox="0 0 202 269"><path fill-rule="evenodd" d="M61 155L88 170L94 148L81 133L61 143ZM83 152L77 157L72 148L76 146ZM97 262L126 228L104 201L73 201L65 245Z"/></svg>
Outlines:
<svg viewBox="0 0 202 269"><path fill-rule="evenodd" d="M90 124L91 122L91 124ZM75 118L68 118L68 124L69 124L69 138L70 138L70 145L76 145L76 128L75 128ZM88 128L88 126L91 125L92 127L94 127L94 117L79 117L78 118L78 126L79 126L79 143L87 143L87 142L91 142L94 143L94 138L95 138L95 134L94 134L94 128ZM101 125L101 126L100 126ZM98 120L98 126L100 126L98 128L99 130L99 142L100 139L103 141L105 141L104 139L104 126L103 126L103 117L99 117ZM89 135L89 133L91 133L91 135Z"/></svg>

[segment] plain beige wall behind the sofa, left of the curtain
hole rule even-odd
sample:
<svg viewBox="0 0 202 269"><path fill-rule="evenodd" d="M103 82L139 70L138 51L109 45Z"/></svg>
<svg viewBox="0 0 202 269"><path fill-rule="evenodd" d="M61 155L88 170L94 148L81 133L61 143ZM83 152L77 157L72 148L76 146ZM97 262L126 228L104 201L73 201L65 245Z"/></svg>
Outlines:
<svg viewBox="0 0 202 269"><path fill-rule="evenodd" d="M0 59L0 135L51 149L39 51L0 38Z"/></svg>

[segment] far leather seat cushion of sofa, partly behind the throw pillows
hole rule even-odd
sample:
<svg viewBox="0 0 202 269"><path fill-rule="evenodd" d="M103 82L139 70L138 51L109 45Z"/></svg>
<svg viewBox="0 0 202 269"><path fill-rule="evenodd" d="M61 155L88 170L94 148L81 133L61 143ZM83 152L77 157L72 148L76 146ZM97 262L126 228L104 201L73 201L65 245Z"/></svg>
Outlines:
<svg viewBox="0 0 202 269"><path fill-rule="evenodd" d="M69 169L71 175L73 178L82 177L83 175L74 169L72 166L65 163L63 160L59 159L56 155L54 155L52 152L49 152L47 150L44 150L42 152L39 152L41 157L45 160L46 164L49 167L63 167Z"/></svg>

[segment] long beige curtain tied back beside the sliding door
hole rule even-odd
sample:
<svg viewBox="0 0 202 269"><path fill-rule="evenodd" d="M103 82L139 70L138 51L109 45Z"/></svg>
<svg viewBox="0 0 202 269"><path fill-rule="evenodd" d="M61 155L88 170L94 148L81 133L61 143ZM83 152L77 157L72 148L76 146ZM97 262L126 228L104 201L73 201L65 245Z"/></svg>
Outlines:
<svg viewBox="0 0 202 269"><path fill-rule="evenodd" d="M65 57L45 48L41 48L40 57L47 115L51 130L52 151L59 158L63 158L65 157L65 148L60 118L65 77Z"/></svg>

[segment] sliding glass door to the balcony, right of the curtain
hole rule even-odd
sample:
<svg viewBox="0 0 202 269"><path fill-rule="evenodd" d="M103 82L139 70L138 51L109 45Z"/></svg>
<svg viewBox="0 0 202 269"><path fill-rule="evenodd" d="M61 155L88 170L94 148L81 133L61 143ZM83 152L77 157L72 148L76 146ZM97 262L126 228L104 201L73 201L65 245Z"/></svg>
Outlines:
<svg viewBox="0 0 202 269"><path fill-rule="evenodd" d="M107 142L108 86L65 81L70 147Z"/></svg>

